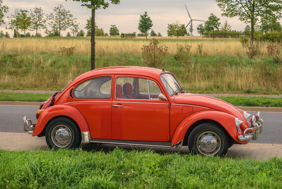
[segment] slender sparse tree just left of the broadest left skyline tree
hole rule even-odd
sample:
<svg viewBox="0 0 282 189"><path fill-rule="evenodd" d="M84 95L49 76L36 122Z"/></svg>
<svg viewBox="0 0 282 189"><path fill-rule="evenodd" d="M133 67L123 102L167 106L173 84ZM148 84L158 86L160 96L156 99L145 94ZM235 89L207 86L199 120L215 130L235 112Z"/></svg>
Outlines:
<svg viewBox="0 0 282 189"><path fill-rule="evenodd" d="M46 19L44 19L44 13L41 7L30 9L31 25L30 30L36 31L35 36L37 37L38 30L46 28Z"/></svg>

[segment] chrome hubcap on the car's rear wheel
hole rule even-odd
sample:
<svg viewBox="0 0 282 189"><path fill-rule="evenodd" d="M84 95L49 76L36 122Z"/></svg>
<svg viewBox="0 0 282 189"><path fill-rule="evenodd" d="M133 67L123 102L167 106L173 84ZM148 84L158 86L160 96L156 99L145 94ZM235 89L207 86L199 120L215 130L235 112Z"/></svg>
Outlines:
<svg viewBox="0 0 282 189"><path fill-rule="evenodd" d="M51 139L56 146L60 148L67 147L72 140L70 128L65 125L54 127L51 133Z"/></svg>

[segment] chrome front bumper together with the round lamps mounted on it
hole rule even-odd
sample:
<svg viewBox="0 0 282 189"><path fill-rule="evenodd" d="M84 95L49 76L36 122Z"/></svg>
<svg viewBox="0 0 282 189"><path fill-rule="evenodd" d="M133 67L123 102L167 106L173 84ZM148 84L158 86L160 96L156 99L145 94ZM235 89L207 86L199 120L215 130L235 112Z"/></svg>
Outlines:
<svg viewBox="0 0 282 189"><path fill-rule="evenodd" d="M262 133L262 126L263 126L263 120L260 118L260 112L256 114L256 116L253 116L250 119L250 122L248 121L250 128L247 128L243 135L239 135L238 139L239 141L249 141L249 140L256 140L261 136ZM249 134L246 134L246 132L250 132Z"/></svg>

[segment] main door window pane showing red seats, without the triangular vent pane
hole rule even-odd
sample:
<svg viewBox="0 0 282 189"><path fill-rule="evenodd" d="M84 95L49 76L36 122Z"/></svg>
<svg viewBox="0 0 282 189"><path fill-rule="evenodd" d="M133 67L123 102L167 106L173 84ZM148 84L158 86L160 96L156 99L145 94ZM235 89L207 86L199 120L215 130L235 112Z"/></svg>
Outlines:
<svg viewBox="0 0 282 189"><path fill-rule="evenodd" d="M115 97L117 99L149 100L147 79L133 77L118 77Z"/></svg>

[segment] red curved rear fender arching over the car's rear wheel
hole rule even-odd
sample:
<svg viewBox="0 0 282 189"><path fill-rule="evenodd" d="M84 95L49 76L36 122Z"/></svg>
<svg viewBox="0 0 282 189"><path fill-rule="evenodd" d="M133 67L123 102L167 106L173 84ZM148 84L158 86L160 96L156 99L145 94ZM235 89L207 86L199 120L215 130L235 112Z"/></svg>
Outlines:
<svg viewBox="0 0 282 189"><path fill-rule="evenodd" d="M79 126L81 132L89 131L88 123L83 115L73 106L56 105L45 109L38 118L32 136L39 135L47 126L48 121L56 116L66 116L73 119Z"/></svg>

